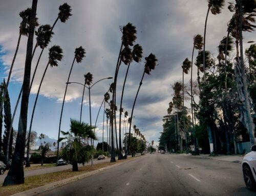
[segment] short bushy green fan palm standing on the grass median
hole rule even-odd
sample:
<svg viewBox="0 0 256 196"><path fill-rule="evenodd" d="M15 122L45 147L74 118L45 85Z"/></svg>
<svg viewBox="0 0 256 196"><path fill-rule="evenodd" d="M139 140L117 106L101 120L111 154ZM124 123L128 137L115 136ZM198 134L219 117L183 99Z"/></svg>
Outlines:
<svg viewBox="0 0 256 196"><path fill-rule="evenodd" d="M70 161L72 164L72 171L78 171L78 163L88 163L92 154L93 147L83 142L82 139L96 140L96 136L93 133L93 127L88 123L79 122L78 120L70 120L69 132L61 131L65 138L59 138L58 142L66 140L66 146L62 149L62 157L65 160Z"/></svg>

